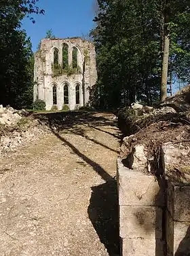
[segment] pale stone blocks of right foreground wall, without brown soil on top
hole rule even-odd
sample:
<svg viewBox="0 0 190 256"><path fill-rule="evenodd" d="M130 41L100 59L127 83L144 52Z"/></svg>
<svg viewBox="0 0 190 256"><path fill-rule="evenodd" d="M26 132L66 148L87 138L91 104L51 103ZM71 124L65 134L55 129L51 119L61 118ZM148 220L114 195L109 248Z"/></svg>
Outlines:
<svg viewBox="0 0 190 256"><path fill-rule="evenodd" d="M140 147L130 168L117 160L121 256L190 255L190 149L165 143L161 151L159 177Z"/></svg>

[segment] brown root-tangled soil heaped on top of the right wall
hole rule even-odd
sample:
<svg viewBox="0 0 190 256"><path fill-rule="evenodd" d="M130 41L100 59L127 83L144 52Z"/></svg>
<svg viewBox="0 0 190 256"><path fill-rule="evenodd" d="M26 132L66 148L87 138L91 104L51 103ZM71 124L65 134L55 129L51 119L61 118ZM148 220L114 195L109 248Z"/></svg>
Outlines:
<svg viewBox="0 0 190 256"><path fill-rule="evenodd" d="M189 152L190 112L176 113L174 109L169 109L171 113L167 113L168 107L163 107L160 110L154 109L154 111L154 113L140 113L138 116L133 113L133 109L121 109L118 116L119 127L127 137L121 145L120 156L124 166L132 168L135 146L143 145L147 162L151 163L151 168L145 168L147 173L151 172L156 177L161 175L173 177L176 176L176 173L173 174L167 170L166 174L164 170L163 160L165 156L162 146L166 143L172 143L172 145L178 145L179 150L180 147L185 147L186 151ZM188 158L188 154L185 155L184 159L180 156L180 161L178 160L178 164L175 166L177 171L182 165L189 166ZM189 178L185 177L185 171L178 172L180 175L175 179L175 182L189 183ZM173 178L172 181L174 181Z"/></svg>

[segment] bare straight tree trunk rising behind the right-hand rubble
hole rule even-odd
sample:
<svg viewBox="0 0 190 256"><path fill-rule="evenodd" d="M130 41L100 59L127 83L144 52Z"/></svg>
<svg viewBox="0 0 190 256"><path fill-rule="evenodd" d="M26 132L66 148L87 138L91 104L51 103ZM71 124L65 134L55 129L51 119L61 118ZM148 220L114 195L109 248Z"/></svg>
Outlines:
<svg viewBox="0 0 190 256"><path fill-rule="evenodd" d="M162 61L162 72L161 72L161 88L160 88L160 100L164 101L167 97L167 80L168 80L168 62L169 62L169 48L170 39L169 33L164 37L164 54Z"/></svg>

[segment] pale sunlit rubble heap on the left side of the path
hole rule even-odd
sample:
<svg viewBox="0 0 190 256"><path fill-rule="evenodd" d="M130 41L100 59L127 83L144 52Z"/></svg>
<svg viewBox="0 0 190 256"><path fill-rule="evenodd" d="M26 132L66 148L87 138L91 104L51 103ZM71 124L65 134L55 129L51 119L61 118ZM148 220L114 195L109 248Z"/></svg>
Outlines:
<svg viewBox="0 0 190 256"><path fill-rule="evenodd" d="M37 140L46 132L48 128L28 111L0 105L0 155Z"/></svg>

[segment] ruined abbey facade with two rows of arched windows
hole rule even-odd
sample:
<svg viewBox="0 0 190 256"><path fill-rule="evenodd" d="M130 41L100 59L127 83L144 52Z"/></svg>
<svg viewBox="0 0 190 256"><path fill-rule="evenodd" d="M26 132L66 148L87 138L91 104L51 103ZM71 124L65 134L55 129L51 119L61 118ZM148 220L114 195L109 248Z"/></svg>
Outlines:
<svg viewBox="0 0 190 256"><path fill-rule="evenodd" d="M35 54L34 79L34 101L44 100L46 110L90 105L97 79L93 43L79 37L43 39Z"/></svg>

